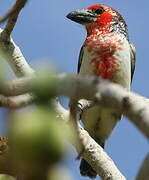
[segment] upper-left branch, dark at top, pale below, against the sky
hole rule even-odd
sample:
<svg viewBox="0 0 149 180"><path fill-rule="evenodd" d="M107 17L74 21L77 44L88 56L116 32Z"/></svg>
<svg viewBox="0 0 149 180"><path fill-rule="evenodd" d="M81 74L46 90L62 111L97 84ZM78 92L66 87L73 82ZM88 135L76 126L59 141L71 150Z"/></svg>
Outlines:
<svg viewBox="0 0 149 180"><path fill-rule="evenodd" d="M0 23L8 19L4 30L0 29L0 55L9 63L17 77L27 76L34 73L33 69L31 69L25 60L19 47L10 37L18 15L27 1L28 0L17 0L6 15L0 19Z"/></svg>

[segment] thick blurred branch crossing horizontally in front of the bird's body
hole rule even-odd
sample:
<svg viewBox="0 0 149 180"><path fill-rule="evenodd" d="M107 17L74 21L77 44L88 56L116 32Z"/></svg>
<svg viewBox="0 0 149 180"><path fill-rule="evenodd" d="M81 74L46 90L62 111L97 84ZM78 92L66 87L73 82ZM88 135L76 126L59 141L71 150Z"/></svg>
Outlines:
<svg viewBox="0 0 149 180"><path fill-rule="evenodd" d="M51 88L51 84L48 84L48 81L52 78L52 82L55 82L52 89L56 96L64 95L76 100L88 99L106 108L117 109L149 138L148 99L129 92L114 83L96 77L77 75L47 76L47 83L44 85L48 91ZM22 93L32 92L34 86L41 86L38 78L19 78L6 83L5 88L1 87L0 92L6 96L17 96Z"/></svg>

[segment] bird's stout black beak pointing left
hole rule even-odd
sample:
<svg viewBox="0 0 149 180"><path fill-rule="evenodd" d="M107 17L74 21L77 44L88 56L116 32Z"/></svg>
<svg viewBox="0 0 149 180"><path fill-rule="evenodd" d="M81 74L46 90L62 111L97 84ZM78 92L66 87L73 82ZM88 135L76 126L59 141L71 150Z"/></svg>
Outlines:
<svg viewBox="0 0 149 180"><path fill-rule="evenodd" d="M84 25L95 22L97 19L97 15L94 15L91 11L87 9L72 11L66 17L68 19L71 19L72 21Z"/></svg>

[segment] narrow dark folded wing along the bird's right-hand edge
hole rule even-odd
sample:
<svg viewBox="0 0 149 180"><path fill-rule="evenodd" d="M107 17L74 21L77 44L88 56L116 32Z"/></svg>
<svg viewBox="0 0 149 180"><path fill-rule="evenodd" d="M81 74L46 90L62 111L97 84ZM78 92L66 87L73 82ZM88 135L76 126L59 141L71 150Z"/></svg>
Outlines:
<svg viewBox="0 0 149 180"><path fill-rule="evenodd" d="M130 43L130 56L131 56L131 82L135 71L136 64L136 48L133 43Z"/></svg>

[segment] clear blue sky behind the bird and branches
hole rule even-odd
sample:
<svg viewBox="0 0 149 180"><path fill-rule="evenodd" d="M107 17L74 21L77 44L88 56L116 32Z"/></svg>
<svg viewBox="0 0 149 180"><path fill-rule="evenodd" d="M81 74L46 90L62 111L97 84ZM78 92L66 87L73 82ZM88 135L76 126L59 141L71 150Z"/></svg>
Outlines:
<svg viewBox="0 0 149 180"><path fill-rule="evenodd" d="M0 16L14 2L14 0L1 1ZM21 12L12 34L13 39L33 68L48 63L55 66L59 73L74 73L86 32L81 25L68 20L65 16L72 10L93 4L109 5L125 18L130 41L137 49L132 91L149 97L148 0L30 0ZM0 115L0 135L4 135L3 109ZM138 129L123 118L107 141L105 150L126 178L132 180L148 152L148 143ZM65 166L75 180L89 180L80 176L76 156L76 151L71 148L69 156L64 160Z"/></svg>

